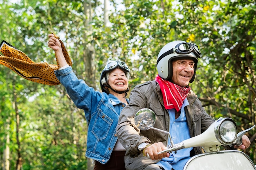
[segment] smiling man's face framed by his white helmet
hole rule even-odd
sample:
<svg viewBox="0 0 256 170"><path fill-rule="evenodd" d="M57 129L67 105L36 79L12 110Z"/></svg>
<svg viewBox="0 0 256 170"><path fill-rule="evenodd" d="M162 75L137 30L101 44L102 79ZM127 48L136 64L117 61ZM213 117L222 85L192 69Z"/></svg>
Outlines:
<svg viewBox="0 0 256 170"><path fill-rule="evenodd" d="M173 77L174 84L186 87L194 75L195 62L189 59L173 61Z"/></svg>

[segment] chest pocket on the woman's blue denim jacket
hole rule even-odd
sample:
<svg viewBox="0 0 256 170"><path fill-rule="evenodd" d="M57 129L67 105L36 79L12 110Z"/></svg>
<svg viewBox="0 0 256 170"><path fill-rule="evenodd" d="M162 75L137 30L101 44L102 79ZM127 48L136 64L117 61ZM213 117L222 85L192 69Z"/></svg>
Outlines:
<svg viewBox="0 0 256 170"><path fill-rule="evenodd" d="M102 139L106 139L108 132L110 130L110 127L112 125L112 122L113 122L113 119L108 117L106 114L102 112L101 109L99 109L92 127L92 133L94 134L94 136L97 138L98 141Z"/></svg>

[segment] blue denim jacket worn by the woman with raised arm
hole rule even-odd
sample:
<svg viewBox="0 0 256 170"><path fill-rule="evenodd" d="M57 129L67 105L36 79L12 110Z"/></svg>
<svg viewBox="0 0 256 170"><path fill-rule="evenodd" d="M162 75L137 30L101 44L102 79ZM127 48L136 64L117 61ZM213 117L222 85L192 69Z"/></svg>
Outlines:
<svg viewBox="0 0 256 170"><path fill-rule="evenodd" d="M114 95L100 93L89 87L76 77L71 66L54 73L65 86L76 107L84 110L88 123L85 156L100 163L107 163L117 142L116 126L119 115L126 104ZM126 100L128 102L128 99Z"/></svg>

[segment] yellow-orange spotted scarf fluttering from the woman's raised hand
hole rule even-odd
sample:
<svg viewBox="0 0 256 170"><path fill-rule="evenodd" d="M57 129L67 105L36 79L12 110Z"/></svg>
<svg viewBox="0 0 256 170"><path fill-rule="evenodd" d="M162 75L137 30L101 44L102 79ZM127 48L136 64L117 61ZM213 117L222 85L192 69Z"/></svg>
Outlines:
<svg viewBox="0 0 256 170"><path fill-rule="evenodd" d="M59 39L59 37L55 34L54 37ZM61 48L67 64L72 66L72 61L67 53L67 49L65 48L63 42L60 39L59 41L61 42ZM54 70L59 69L57 58L57 65L48 64L46 62L36 63L33 62L25 53L16 49L14 46L6 41L1 42L0 52L3 54L0 54L0 64L7 66L21 77L40 84L52 86L60 84L54 74Z"/></svg>

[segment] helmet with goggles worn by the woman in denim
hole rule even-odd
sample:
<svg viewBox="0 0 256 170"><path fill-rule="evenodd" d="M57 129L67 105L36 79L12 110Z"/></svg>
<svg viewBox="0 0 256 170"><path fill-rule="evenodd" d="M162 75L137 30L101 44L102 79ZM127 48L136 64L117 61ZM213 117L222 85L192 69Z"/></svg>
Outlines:
<svg viewBox="0 0 256 170"><path fill-rule="evenodd" d="M130 75L129 71L130 71L130 69L128 68L128 66L127 66L127 64L125 62L122 62L120 60L110 61L110 62L108 62L106 64L105 68L101 72L101 78L100 78L101 91L109 94L108 89L104 88L104 87L108 87L108 88L110 88L112 91L114 91L116 93L119 93L119 94L126 93L126 95L127 95L127 92L129 91L129 88L127 88L125 91L115 91L108 84L107 73L109 73L110 71L114 70L115 68L120 68L121 70L123 70L124 73L126 74L127 79L129 79L129 75Z"/></svg>

